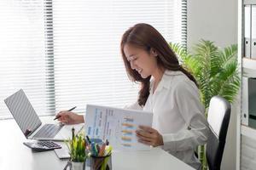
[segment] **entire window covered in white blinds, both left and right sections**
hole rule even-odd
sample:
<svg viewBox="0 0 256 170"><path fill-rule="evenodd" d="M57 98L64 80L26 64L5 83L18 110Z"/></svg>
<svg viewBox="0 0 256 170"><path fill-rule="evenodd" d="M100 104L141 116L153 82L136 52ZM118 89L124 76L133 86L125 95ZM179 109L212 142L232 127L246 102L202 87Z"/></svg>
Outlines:
<svg viewBox="0 0 256 170"><path fill-rule="evenodd" d="M6 37L3 42L0 40L0 61L1 64L6 62L7 67L0 68L6 73L0 77L6 81L5 85L0 84L3 91L0 97L3 101L16 88L24 88L38 114L55 114L55 111L73 106L77 106L77 112L84 113L87 104L123 107L135 102L138 86L126 76L119 42L124 31L136 23L154 26L169 42L186 42L186 1L12 2L27 2L29 8L20 11L22 7L11 6L9 10L2 10L5 7L0 6L1 23L8 22L20 35L10 40L6 34L13 34L12 30L4 28L0 31L0 36ZM37 8L32 8L33 3ZM15 15L15 10L22 14ZM4 19L2 16L6 14L14 19ZM30 20L28 14L36 19ZM26 16L24 20L20 20L22 15ZM26 31L22 31L22 26ZM10 41L9 45L3 48L2 43L6 40ZM17 44L20 51L15 52L16 42L21 45ZM3 56L6 54L9 58ZM26 59L26 65L14 65ZM19 74L12 69L19 70ZM26 75L27 79L22 79L21 75ZM9 114L3 102L0 109L0 115Z"/></svg>

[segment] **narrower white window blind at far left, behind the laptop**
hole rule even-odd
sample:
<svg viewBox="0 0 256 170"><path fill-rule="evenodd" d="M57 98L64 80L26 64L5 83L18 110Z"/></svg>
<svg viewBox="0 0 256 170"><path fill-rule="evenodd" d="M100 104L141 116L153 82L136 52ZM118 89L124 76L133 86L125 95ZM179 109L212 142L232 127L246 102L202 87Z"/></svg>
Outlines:
<svg viewBox="0 0 256 170"><path fill-rule="evenodd" d="M20 88L44 114L44 3L0 0L0 23L0 118L12 117L3 99Z"/></svg>

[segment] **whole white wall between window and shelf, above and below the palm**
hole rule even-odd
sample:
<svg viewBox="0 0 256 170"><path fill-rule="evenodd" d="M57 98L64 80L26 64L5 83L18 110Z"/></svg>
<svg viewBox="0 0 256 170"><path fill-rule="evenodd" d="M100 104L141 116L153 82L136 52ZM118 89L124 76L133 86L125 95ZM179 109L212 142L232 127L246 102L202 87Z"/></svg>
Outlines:
<svg viewBox="0 0 256 170"><path fill-rule="evenodd" d="M188 47L200 39L218 47L237 43L236 0L188 0ZM236 111L232 107L230 126L221 169L236 169Z"/></svg>

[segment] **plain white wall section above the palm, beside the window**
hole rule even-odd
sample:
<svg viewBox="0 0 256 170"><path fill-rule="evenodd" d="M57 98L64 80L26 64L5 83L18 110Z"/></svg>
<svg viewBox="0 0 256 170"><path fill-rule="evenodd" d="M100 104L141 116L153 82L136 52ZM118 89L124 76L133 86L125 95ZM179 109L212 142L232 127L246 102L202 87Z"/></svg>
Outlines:
<svg viewBox="0 0 256 170"><path fill-rule="evenodd" d="M188 46L201 38L219 47L237 43L236 0L188 0Z"/></svg>

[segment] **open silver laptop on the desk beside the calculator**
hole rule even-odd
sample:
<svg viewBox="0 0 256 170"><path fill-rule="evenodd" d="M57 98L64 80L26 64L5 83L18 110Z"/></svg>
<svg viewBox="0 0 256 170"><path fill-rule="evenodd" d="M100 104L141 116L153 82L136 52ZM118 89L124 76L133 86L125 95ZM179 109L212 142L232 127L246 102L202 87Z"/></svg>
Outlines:
<svg viewBox="0 0 256 170"><path fill-rule="evenodd" d="M72 138L72 127L75 127L76 132L83 129L82 124L63 125L61 123L45 124L41 122L22 89L4 99L4 102L26 139L62 141Z"/></svg>

